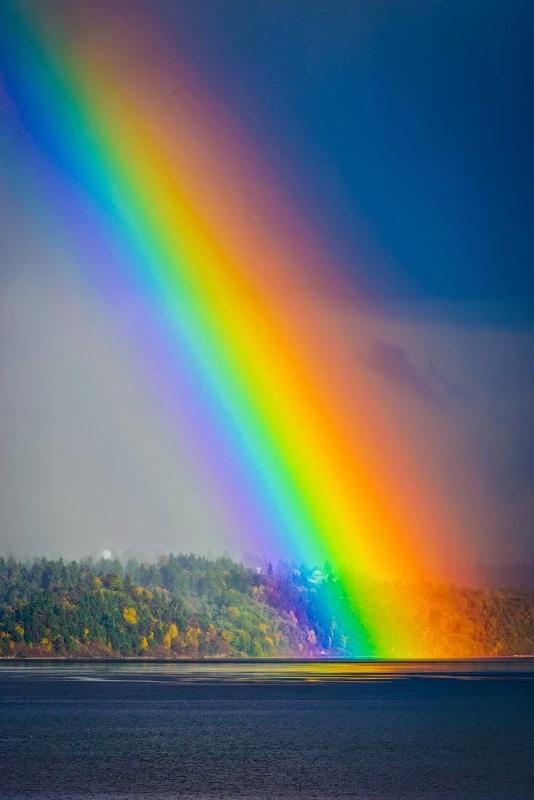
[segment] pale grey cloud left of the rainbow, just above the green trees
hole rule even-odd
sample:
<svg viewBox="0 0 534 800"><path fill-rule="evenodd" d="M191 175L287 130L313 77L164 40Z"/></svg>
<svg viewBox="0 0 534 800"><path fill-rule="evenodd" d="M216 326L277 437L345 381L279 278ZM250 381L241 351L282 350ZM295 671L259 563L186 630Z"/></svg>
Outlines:
<svg viewBox="0 0 534 800"><path fill-rule="evenodd" d="M4 289L0 553L228 548L187 432L169 427L90 293L37 275Z"/></svg>

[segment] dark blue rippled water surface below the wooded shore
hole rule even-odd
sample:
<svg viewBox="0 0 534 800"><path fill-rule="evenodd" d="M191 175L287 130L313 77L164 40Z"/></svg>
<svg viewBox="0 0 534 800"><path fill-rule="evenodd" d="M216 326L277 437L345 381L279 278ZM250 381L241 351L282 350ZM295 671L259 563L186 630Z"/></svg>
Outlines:
<svg viewBox="0 0 534 800"><path fill-rule="evenodd" d="M0 662L9 800L532 800L534 660Z"/></svg>

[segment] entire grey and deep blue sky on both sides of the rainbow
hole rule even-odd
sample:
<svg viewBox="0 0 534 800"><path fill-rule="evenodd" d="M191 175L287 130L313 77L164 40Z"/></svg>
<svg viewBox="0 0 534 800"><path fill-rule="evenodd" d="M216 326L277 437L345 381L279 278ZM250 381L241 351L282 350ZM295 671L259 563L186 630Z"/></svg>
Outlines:
<svg viewBox="0 0 534 800"><path fill-rule="evenodd" d="M77 0L65 22L58 2L56 22L73 51L87 36L98 60L108 22L118 30L133 5L117 0L106 11ZM268 165L278 188L265 201L275 219L265 235L284 226L284 241L300 252L301 231L312 232L310 259L324 267L307 270L305 259L295 267L292 313L302 303L306 319L342 343L346 370L409 438L439 507L458 510L462 546L448 566L532 560L529 4L160 0L152 8L167 63L176 57L199 76L244 150ZM136 50L136 24L125 23L125 39L142 92L152 50ZM0 82L0 550L269 550L236 536L187 420L162 410L158 376L147 377L124 333L125 318L141 327L142 293L103 299L88 277L87 254L56 202L61 167L18 109L10 74ZM179 121L182 108L169 113ZM245 178L242 207L232 196L233 151L225 172L227 123L218 128L218 118L206 116L199 137L215 148L216 188L246 228L245 200L252 219L256 195L246 194Z"/></svg>

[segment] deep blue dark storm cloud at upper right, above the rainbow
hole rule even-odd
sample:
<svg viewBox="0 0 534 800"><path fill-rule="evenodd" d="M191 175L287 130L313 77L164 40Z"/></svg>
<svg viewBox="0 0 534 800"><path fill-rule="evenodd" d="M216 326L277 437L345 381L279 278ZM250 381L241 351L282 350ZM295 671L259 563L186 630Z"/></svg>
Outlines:
<svg viewBox="0 0 534 800"><path fill-rule="evenodd" d="M162 8L359 292L407 318L532 326L534 5L305 6Z"/></svg>

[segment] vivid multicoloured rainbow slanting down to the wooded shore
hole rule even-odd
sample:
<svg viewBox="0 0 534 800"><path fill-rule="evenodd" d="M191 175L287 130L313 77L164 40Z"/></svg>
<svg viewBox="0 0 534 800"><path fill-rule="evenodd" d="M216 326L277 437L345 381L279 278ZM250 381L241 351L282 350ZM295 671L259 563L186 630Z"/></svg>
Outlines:
<svg viewBox="0 0 534 800"><path fill-rule="evenodd" d="M76 5L61 20L38 4L0 12L5 85L62 235L110 302L143 298L136 349L242 543L331 562L354 655L413 655L367 578L434 576L452 523L388 399L317 313L314 292L342 291L340 271L146 7Z"/></svg>

